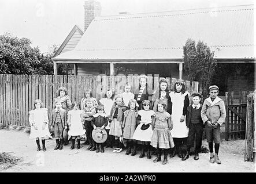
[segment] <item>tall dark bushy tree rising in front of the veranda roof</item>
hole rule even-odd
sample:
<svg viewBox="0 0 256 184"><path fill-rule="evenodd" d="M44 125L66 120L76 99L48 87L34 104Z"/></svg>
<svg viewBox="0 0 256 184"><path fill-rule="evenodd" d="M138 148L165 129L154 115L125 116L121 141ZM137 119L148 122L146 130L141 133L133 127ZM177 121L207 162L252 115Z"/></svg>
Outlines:
<svg viewBox="0 0 256 184"><path fill-rule="evenodd" d="M216 68L216 62L213 59L214 52L211 52L207 44L202 41L199 40L195 45L194 40L188 39L183 46L183 53L184 69L188 72L188 79L199 81L205 99Z"/></svg>

